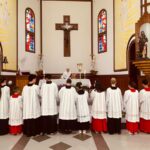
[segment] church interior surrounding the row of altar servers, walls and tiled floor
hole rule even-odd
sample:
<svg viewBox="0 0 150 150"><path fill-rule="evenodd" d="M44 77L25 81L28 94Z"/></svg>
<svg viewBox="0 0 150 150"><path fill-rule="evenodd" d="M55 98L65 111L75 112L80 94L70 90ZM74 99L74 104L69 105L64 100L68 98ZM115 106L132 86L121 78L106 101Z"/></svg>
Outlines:
<svg viewBox="0 0 150 150"><path fill-rule="evenodd" d="M30 74L37 85L50 74L60 89L67 68L73 86L89 92L96 81L106 90L112 77L122 95L129 81L140 91L150 82L150 0L0 0L0 76L10 89L22 90ZM150 134L129 135L125 122L114 135L6 134L0 149L148 150Z"/></svg>

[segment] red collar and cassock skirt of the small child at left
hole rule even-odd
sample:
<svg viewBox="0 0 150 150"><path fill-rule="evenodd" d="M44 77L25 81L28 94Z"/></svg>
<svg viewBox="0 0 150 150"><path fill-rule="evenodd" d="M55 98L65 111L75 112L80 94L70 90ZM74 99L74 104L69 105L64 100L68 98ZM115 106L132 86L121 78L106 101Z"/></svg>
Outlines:
<svg viewBox="0 0 150 150"><path fill-rule="evenodd" d="M12 95L13 98L17 98L18 96L19 96L19 94ZM22 125L18 125L18 126L10 126L9 125L9 133L13 134L13 135L22 133Z"/></svg>

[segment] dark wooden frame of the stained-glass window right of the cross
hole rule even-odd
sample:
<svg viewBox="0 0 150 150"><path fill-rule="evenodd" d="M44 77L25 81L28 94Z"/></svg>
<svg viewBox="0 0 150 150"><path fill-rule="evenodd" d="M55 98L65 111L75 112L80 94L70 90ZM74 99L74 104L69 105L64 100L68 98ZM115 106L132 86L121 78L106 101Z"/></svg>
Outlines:
<svg viewBox="0 0 150 150"><path fill-rule="evenodd" d="M102 11L105 11L106 12L106 32L102 32L102 33L99 33L99 15L101 14ZM101 9L100 12L98 13L98 16L97 16L97 26L98 26L98 53L105 53L107 52L107 11L106 9ZM99 37L103 36L106 34L106 51L99 51Z"/></svg>

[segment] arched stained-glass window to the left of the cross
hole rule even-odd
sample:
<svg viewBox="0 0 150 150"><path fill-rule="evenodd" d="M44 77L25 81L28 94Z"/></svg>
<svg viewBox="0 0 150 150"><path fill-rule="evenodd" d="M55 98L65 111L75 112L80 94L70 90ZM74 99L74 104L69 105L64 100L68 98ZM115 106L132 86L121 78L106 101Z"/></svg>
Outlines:
<svg viewBox="0 0 150 150"><path fill-rule="evenodd" d="M26 51L35 53L35 15L31 8L25 10L25 20Z"/></svg>

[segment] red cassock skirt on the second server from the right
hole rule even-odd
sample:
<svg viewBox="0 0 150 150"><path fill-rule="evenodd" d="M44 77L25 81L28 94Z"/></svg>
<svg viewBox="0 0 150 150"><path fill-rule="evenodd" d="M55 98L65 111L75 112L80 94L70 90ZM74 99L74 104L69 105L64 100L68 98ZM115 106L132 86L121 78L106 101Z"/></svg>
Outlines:
<svg viewBox="0 0 150 150"><path fill-rule="evenodd" d="M139 129L139 123L138 122L129 122L126 120L126 128L131 133L137 133Z"/></svg>

